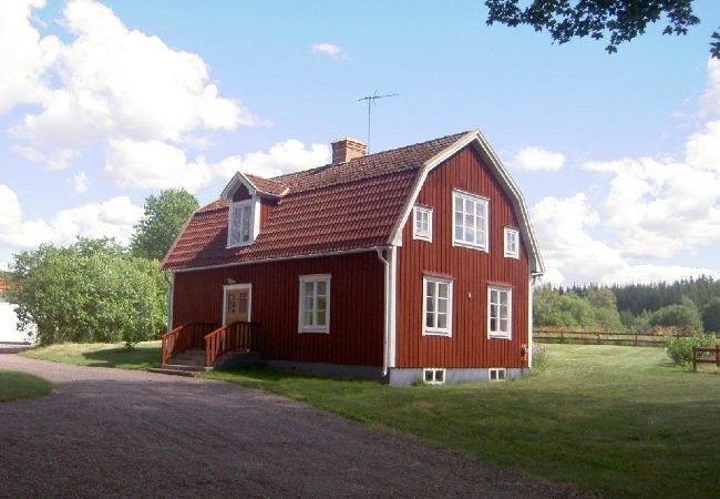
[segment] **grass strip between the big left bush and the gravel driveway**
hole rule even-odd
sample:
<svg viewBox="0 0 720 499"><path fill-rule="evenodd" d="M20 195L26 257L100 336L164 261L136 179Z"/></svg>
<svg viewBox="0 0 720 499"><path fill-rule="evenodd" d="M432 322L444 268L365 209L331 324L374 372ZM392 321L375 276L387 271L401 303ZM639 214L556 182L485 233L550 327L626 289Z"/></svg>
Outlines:
<svg viewBox="0 0 720 499"><path fill-rule="evenodd" d="M140 343L132 352L127 352L122 343L65 343L33 348L20 355L75 366L146 369L160 366L161 342Z"/></svg>

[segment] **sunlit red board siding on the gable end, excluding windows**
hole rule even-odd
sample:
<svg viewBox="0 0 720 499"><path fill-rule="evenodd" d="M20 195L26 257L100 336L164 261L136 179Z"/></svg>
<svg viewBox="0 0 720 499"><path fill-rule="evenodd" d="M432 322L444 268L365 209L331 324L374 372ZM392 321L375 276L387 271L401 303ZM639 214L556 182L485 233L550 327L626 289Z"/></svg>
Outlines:
<svg viewBox="0 0 720 499"><path fill-rule="evenodd" d="M452 246L452 191L490 198L490 253ZM517 227L510 198L472 147L433 170L418 204L433 208L432 243L412 238L412 214L399 248L397 367L522 367L527 344L528 263L505 258L503 226ZM422 274L453 277L452 337L422 336ZM487 284L513 289L512 339L487 339Z"/></svg>

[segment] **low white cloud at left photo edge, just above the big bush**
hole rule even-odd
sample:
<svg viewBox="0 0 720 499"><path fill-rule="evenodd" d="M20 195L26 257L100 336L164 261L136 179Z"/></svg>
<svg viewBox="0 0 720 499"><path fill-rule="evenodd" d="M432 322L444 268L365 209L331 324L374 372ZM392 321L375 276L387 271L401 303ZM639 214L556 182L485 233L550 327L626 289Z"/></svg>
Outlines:
<svg viewBox="0 0 720 499"><path fill-rule="evenodd" d="M127 244L133 226L143 215L127 196L117 196L102 203L88 203L62 210L45 222L42 218L27 221L22 217L16 193L0 184L0 247L31 249L42 243L72 244L76 236L115 237Z"/></svg>

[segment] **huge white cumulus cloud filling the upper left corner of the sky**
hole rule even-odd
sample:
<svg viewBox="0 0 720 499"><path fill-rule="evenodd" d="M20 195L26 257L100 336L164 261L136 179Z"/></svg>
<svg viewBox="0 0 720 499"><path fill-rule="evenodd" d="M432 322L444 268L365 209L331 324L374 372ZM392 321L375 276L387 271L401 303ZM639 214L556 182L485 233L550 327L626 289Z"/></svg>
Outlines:
<svg viewBox="0 0 720 499"><path fill-rule="evenodd" d="M24 157L56 169L92 144L182 144L198 131L260 122L240 102L219 96L199 55L126 28L102 3L65 4L60 24L69 43L42 38L32 26L32 10L42 7L40 0L0 7L0 70L10 77L0 82L0 112L21 103L39 108L10 130L27 143L16 150Z"/></svg>

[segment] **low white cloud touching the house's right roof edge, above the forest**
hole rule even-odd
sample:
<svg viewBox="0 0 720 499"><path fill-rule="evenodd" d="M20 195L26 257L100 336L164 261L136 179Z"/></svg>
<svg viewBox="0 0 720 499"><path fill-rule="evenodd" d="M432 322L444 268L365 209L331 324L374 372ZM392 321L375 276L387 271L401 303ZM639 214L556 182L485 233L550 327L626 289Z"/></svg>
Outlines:
<svg viewBox="0 0 720 499"><path fill-rule="evenodd" d="M720 277L720 271L710 268L636 264L617 247L590 234L599 221L584 193L565 198L548 196L533 207L533 222L547 267L543 282L628 284L671 282L702 274Z"/></svg>

